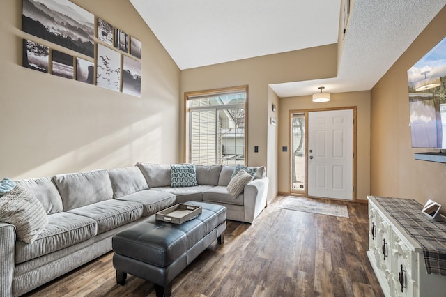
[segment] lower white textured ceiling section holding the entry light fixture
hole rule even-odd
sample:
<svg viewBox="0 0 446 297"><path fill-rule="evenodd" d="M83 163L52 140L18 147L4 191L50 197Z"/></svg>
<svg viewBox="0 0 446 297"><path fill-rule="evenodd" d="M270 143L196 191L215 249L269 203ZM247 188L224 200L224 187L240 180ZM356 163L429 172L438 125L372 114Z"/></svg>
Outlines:
<svg viewBox="0 0 446 297"><path fill-rule="evenodd" d="M446 0L355 0L337 77L274 84L280 98L370 90L446 5ZM420 57L421 58L421 57Z"/></svg>

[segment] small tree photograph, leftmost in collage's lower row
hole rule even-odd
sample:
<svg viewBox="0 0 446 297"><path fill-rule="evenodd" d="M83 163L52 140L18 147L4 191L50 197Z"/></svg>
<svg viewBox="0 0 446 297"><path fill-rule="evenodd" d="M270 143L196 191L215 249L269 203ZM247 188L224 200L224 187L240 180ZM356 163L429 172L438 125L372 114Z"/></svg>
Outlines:
<svg viewBox="0 0 446 297"><path fill-rule="evenodd" d="M49 49L31 40L23 40L23 67L48 73Z"/></svg>

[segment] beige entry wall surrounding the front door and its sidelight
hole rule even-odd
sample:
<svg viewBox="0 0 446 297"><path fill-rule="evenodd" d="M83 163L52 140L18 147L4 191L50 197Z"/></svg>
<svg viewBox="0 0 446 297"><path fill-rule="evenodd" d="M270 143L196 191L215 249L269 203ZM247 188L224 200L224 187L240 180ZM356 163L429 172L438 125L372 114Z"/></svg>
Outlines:
<svg viewBox="0 0 446 297"><path fill-rule="evenodd" d="M334 107L357 107L357 200L366 199L370 193L370 92L332 93L332 100L325 103L312 102L312 96L280 98L279 112L279 192L290 192L291 148L290 111L324 109ZM282 146L288 146L282 152Z"/></svg>

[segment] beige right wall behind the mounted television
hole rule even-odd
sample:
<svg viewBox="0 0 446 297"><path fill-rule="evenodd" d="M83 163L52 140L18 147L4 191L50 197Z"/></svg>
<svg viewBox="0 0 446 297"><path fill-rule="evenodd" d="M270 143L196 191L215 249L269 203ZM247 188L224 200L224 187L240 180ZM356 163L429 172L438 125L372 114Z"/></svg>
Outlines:
<svg viewBox="0 0 446 297"><path fill-rule="evenodd" d="M446 204L446 164L414 159L407 70L446 36L446 8L371 89L371 194Z"/></svg>

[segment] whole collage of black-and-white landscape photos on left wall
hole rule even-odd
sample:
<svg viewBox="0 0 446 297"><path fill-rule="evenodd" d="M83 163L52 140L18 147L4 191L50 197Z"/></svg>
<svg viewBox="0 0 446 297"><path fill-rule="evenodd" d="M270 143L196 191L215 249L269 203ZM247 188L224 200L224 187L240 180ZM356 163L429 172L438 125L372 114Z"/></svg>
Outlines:
<svg viewBox="0 0 446 297"><path fill-rule="evenodd" d="M137 38L98 17L95 41L95 16L69 0L22 2L22 31L87 57L24 39L24 67L141 97L142 45Z"/></svg>

